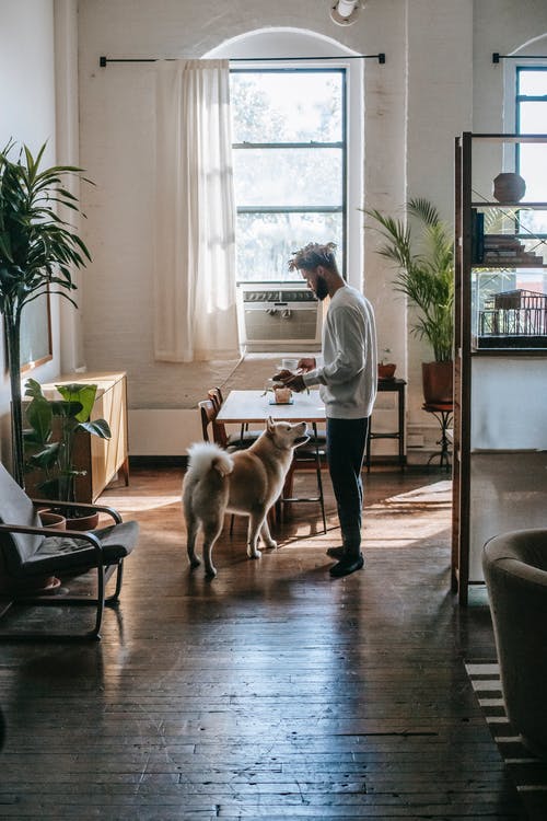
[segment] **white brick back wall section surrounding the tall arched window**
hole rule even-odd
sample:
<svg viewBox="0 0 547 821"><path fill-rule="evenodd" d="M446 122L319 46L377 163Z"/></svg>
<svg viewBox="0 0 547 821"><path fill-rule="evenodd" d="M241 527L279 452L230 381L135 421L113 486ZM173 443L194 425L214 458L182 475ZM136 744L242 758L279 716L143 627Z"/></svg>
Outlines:
<svg viewBox="0 0 547 821"><path fill-rule="evenodd" d="M150 311L153 69L147 63L109 65L101 69L100 56L199 57L225 41L270 27L312 32L338 39L357 53L388 53L388 67L370 60L364 70L363 125L371 141L365 173L375 204L383 207L393 199L400 201L404 193L404 174L399 173L404 170L404 153L399 136L404 132L405 109L398 104L404 101L404 10L401 0L385 0L382 8L372 3L356 26L342 28L331 23L328 4L316 0L299 3L257 0L251 7L247 2L226 4L217 0L196 4L189 0L166 0L161 10L144 0L108 3L83 0L79 28L81 161L96 183L96 187L85 194L90 217L86 241L94 254L92 276L85 277L83 286L85 355L92 369L127 370L131 408L194 407L211 384L228 380L229 390L230 374L236 362L213 362L203 367L203 363L174 365L153 360ZM263 56L263 51L258 56ZM382 152L377 151L375 142L383 143ZM388 178L387 169L396 171ZM352 216L357 238L353 243L358 251L354 258L362 259L365 246L362 220L360 215ZM351 279L360 285L363 280L361 262L358 268L351 271ZM385 310L379 307L380 333L385 337L384 347L391 347L394 355L400 357L403 375L405 307L401 302L394 303L384 284L380 289L375 287L366 265L364 280L372 299L382 291ZM401 328L401 333L394 335L393 327ZM263 374L253 366L246 370L246 378L249 386L260 388L264 383ZM130 444L131 449L138 447L131 436Z"/></svg>

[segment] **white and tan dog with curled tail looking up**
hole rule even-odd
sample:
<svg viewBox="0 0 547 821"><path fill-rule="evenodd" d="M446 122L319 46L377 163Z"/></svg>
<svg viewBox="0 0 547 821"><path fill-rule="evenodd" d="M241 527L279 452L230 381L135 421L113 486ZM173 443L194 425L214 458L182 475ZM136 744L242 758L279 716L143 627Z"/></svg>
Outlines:
<svg viewBox="0 0 547 821"><path fill-rule="evenodd" d="M183 507L191 567L200 564L196 537L201 527L206 573L217 575L212 548L221 533L224 513L248 516L249 558L260 557L259 536L266 547L277 547L268 528L268 511L282 490L294 448L307 439L305 421L290 425L269 418L266 430L246 450L229 453L211 442L197 442L188 448Z"/></svg>

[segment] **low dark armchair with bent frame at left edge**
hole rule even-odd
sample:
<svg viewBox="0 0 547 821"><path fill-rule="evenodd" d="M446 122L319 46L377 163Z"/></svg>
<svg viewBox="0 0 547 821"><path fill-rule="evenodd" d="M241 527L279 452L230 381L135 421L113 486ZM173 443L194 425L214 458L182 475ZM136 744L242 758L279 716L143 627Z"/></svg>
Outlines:
<svg viewBox="0 0 547 821"><path fill-rule="evenodd" d="M38 506L56 506L70 510L78 507L107 513L114 522L93 531L59 531L46 528L38 516ZM66 629L46 633L27 631L0 633L0 638L74 639L100 638L105 604L116 604L121 590L124 559L137 544L139 525L123 522L114 508L81 502L55 502L31 499L5 467L0 464L0 616L14 603L92 604L94 627L83 634ZM90 570L96 573L94 595L69 595L60 587L65 581ZM110 576L116 571L114 593L105 594ZM59 592L55 591L59 589ZM47 593L44 594L44 593ZM66 620L62 621L65 627Z"/></svg>

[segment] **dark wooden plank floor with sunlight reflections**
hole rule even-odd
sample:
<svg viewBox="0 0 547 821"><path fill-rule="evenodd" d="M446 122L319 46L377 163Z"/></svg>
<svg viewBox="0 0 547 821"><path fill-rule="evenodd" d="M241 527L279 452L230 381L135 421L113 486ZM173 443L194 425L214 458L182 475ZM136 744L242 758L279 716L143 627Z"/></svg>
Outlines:
<svg viewBox="0 0 547 821"><path fill-rule="evenodd" d="M464 667L494 650L449 589L444 474L373 470L366 566L338 580L328 493L326 535L293 506L251 562L238 519L217 579L190 571L181 479L102 497L141 539L101 643L1 646L0 819L526 818Z"/></svg>

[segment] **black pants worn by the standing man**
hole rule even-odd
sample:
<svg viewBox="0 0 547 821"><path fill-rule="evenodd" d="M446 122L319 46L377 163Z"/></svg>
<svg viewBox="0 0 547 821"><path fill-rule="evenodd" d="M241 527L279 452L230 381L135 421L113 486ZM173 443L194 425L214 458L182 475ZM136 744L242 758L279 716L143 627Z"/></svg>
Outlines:
<svg viewBox="0 0 547 821"><path fill-rule="evenodd" d="M327 419L328 470L338 508L342 543L350 556L358 556L361 551L361 469L368 432L369 417Z"/></svg>

